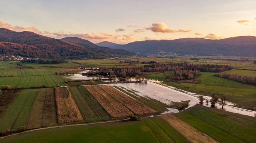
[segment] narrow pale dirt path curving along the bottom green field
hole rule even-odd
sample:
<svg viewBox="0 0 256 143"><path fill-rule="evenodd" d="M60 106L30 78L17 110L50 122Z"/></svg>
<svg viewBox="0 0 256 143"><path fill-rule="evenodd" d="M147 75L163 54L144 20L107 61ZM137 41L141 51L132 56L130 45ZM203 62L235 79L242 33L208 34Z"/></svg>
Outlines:
<svg viewBox="0 0 256 143"><path fill-rule="evenodd" d="M124 121L124 120L130 120L130 119L127 118L127 119L111 120L111 121L97 122L97 123L81 123L81 124L71 124L71 125L63 125L63 126L52 126L52 127L46 127L46 128L32 129L32 130L28 130L28 131L20 132L20 133L16 133L16 134L11 134L11 135L4 136L4 137L11 137L11 136L14 136L14 135L17 135L17 134L23 134L23 133L27 133L27 132L34 132L34 131L44 130L44 129L61 128L61 127L67 127L67 126L85 126L85 125L92 125L92 124L119 122L119 121ZM4 137L0 137L0 139L2 139Z"/></svg>

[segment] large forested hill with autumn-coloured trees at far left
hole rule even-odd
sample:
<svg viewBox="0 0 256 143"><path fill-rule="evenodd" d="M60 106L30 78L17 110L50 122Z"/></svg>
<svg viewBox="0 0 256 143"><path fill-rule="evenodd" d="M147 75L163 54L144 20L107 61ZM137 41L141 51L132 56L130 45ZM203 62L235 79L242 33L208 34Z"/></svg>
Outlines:
<svg viewBox="0 0 256 143"><path fill-rule="evenodd" d="M113 57L111 53L102 53L64 40L29 31L15 32L5 28L0 28L0 54L67 59Z"/></svg>

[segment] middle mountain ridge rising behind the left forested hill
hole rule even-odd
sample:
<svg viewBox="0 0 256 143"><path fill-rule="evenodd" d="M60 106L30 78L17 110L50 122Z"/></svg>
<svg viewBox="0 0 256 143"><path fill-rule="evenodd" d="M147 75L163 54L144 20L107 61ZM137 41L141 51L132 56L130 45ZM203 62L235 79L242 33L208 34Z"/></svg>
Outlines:
<svg viewBox="0 0 256 143"><path fill-rule="evenodd" d="M94 51L102 52L102 53L110 53L110 54L116 54L116 55L134 55L135 54L134 52L126 51L123 49L112 49L108 47L100 47L91 43L88 40L84 40L79 37L65 37L65 38L62 38L61 40L65 40L67 42L74 43L76 45L84 46Z"/></svg>

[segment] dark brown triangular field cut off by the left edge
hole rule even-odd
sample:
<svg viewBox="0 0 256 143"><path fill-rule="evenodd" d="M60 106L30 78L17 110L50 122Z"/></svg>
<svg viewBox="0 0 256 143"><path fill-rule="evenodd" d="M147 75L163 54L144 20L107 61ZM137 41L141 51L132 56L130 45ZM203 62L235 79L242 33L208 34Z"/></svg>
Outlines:
<svg viewBox="0 0 256 143"><path fill-rule="evenodd" d="M8 109L9 105L15 100L17 95L21 92L21 89L6 90L0 94L0 118L3 113Z"/></svg>

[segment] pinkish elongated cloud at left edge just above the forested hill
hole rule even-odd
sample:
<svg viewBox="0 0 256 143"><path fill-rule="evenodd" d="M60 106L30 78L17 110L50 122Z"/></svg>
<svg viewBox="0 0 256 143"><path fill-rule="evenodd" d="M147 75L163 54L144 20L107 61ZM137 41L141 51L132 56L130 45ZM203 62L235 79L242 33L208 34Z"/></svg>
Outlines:
<svg viewBox="0 0 256 143"><path fill-rule="evenodd" d="M9 23L6 23L4 21L0 21L0 27L10 29L10 30L13 30L13 31L17 31L17 32L31 31L31 32L35 32L37 34L42 34L42 32L40 30L38 30L35 26L24 28L24 27L21 27L21 26L12 26Z"/></svg>

